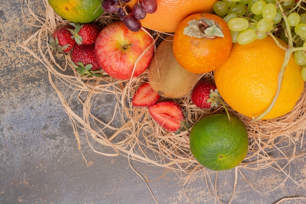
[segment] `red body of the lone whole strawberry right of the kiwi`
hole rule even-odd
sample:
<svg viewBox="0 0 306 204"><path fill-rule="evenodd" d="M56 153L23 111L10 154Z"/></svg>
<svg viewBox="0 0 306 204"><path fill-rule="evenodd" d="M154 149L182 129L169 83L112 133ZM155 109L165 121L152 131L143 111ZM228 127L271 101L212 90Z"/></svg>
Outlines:
<svg viewBox="0 0 306 204"><path fill-rule="evenodd" d="M211 102L207 103L210 90L215 91L215 89L217 89L215 84L200 80L191 92L191 101L199 108L208 109L211 107Z"/></svg>

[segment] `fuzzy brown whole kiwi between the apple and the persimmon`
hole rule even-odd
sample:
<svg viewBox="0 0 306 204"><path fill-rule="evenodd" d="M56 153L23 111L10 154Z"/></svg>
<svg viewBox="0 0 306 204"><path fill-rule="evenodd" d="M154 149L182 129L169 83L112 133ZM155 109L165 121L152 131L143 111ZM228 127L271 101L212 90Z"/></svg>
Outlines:
<svg viewBox="0 0 306 204"><path fill-rule="evenodd" d="M161 96L181 98L194 88L201 74L187 71L178 64L173 54L172 39L168 36L156 48L149 67L149 83Z"/></svg>

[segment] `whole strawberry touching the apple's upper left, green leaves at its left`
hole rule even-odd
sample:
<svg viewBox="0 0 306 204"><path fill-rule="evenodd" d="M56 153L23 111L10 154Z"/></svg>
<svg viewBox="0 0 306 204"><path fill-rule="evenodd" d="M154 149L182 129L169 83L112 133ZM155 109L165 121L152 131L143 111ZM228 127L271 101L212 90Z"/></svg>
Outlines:
<svg viewBox="0 0 306 204"><path fill-rule="evenodd" d="M73 39L79 45L94 44L96 42L98 34L102 29L101 26L91 23L85 23L85 24L70 23L70 25L73 25L74 28L70 29L70 32L73 35Z"/></svg>

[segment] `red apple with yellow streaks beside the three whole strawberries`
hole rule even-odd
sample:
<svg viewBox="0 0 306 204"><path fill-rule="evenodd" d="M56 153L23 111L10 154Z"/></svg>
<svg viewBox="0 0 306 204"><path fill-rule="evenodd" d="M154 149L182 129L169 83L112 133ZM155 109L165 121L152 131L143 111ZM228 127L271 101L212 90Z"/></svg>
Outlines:
<svg viewBox="0 0 306 204"><path fill-rule="evenodd" d="M133 77L149 67L154 55L153 39L143 30L132 32L123 22L111 23L99 33L95 53L101 68L111 77L130 79L141 54L143 56L137 61Z"/></svg>

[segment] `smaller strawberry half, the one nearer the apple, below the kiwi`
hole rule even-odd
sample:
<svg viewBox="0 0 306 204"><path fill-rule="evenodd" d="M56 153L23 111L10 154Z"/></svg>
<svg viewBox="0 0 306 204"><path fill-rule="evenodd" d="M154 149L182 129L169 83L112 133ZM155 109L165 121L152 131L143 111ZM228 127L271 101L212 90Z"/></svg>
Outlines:
<svg viewBox="0 0 306 204"><path fill-rule="evenodd" d="M132 98L133 106L153 106L160 99L149 83L142 84Z"/></svg>

